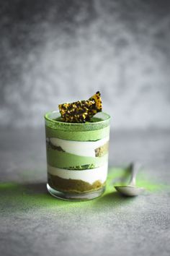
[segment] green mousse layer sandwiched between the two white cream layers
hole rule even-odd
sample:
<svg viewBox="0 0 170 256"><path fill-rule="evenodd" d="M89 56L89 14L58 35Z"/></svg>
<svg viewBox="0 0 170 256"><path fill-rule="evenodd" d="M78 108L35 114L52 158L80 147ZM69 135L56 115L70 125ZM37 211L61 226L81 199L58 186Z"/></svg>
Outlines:
<svg viewBox="0 0 170 256"><path fill-rule="evenodd" d="M84 166L91 164L95 168L102 166L107 162L108 155L102 157L89 157L73 155L71 153L61 152L47 148L47 161L50 166L57 168L71 168L71 166Z"/></svg>

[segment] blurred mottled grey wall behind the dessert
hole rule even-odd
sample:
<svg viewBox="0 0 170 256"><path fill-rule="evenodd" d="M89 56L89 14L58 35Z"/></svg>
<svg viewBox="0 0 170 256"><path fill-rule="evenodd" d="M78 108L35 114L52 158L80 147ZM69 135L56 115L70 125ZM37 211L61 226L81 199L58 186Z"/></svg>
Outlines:
<svg viewBox="0 0 170 256"><path fill-rule="evenodd" d="M97 90L112 127L170 128L169 1L1 1L0 124Z"/></svg>

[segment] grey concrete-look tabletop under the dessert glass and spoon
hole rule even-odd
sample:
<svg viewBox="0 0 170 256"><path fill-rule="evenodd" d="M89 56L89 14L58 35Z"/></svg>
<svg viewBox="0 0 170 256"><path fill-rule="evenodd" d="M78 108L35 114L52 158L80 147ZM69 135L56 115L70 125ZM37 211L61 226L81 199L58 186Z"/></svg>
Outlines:
<svg viewBox="0 0 170 256"><path fill-rule="evenodd" d="M45 188L43 132L0 132L1 255L169 256L169 189L130 200L115 192L90 202L56 200ZM115 131L109 166L140 161L151 180L169 185L169 153L169 131ZM14 182L26 184L29 195Z"/></svg>

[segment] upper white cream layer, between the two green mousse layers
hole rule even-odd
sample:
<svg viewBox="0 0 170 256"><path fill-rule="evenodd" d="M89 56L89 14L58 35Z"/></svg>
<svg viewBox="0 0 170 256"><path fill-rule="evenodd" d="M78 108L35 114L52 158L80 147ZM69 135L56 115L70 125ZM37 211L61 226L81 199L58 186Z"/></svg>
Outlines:
<svg viewBox="0 0 170 256"><path fill-rule="evenodd" d="M62 140L58 138L50 138L50 142L55 146L61 146L67 153L92 156L95 157L95 149L101 147L109 141L109 137L105 137L97 141L73 141Z"/></svg>

